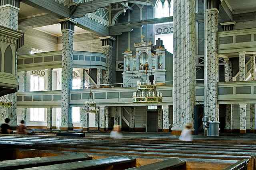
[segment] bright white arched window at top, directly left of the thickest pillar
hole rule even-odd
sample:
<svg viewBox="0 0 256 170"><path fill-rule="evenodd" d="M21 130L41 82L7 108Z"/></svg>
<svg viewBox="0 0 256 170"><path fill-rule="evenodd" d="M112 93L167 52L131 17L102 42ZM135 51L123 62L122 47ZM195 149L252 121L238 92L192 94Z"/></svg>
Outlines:
<svg viewBox="0 0 256 170"><path fill-rule="evenodd" d="M173 0L158 0L156 2L156 18L173 16Z"/></svg>

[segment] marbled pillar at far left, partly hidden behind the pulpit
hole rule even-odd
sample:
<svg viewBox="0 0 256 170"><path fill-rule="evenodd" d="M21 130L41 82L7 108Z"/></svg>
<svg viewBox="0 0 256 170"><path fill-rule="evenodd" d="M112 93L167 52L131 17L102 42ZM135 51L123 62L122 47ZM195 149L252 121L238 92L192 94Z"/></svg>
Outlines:
<svg viewBox="0 0 256 170"><path fill-rule="evenodd" d="M0 0L0 25L8 27L10 29L18 30L18 14L20 11L20 0ZM15 76L17 78L17 53L15 56ZM17 78L18 79L18 78ZM4 119L9 118L11 127L17 127L17 104L16 104L16 94L8 94L4 96L6 99L12 101L12 108L5 109Z"/></svg>

